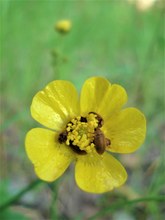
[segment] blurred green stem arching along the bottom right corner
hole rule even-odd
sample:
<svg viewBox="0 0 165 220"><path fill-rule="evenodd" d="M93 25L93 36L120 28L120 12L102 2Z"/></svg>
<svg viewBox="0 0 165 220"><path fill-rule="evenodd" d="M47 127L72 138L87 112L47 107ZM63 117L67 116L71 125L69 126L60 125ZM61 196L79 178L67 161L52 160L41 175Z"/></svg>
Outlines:
<svg viewBox="0 0 165 220"><path fill-rule="evenodd" d="M153 196L153 197L144 197L144 198L139 198L139 199L134 199L134 200L116 202L112 204L110 207L100 210L95 215L91 216L89 220L94 220L94 219L97 219L98 217L103 217L104 215L108 213L112 213L115 210L118 210L127 205L133 205L139 202L154 202L154 201L157 201L157 202L165 201L165 197L164 196Z"/></svg>

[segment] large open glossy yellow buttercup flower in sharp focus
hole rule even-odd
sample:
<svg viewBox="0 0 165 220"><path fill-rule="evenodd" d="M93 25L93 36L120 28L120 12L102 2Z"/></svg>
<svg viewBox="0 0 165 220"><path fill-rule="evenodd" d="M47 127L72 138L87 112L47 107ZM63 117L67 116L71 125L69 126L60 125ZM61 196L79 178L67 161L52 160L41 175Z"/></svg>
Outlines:
<svg viewBox="0 0 165 220"><path fill-rule="evenodd" d="M71 162L75 180L84 191L103 193L127 179L124 167L110 152L131 153L143 143L144 115L122 109L127 94L120 85L101 77L85 81L80 98L68 81L49 83L33 98L32 117L47 128L26 136L26 152L39 178L59 178Z"/></svg>

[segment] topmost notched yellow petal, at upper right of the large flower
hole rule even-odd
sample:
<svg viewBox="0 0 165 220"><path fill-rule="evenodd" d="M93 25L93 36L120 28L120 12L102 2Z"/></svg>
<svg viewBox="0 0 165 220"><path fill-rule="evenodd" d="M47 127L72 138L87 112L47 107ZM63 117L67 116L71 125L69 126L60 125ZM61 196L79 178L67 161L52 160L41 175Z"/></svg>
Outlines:
<svg viewBox="0 0 165 220"><path fill-rule="evenodd" d="M104 120L118 112L127 102L127 94L123 87L111 85L106 79L93 77L88 79L82 88L81 113L96 112Z"/></svg>

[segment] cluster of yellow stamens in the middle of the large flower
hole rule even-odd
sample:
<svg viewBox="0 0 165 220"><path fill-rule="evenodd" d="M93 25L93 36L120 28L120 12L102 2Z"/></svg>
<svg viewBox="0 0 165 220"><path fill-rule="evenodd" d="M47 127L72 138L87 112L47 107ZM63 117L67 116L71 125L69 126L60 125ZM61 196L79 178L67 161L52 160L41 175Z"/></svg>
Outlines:
<svg viewBox="0 0 165 220"><path fill-rule="evenodd" d="M78 116L72 119L66 126L67 139L66 145L74 151L79 149L80 152L92 153L95 151L94 133L98 127L97 115L89 113L86 117Z"/></svg>

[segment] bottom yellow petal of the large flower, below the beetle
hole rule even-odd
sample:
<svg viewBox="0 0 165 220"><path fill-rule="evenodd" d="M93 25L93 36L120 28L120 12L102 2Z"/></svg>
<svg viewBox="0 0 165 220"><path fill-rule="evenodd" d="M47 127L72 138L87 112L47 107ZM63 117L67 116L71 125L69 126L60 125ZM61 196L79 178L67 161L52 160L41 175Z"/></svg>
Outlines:
<svg viewBox="0 0 165 220"><path fill-rule="evenodd" d="M119 187L127 179L124 167L108 153L85 155L75 167L77 185L86 192L103 193Z"/></svg>

